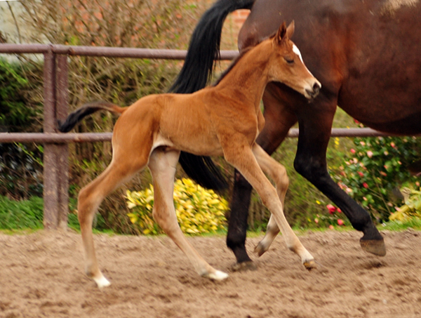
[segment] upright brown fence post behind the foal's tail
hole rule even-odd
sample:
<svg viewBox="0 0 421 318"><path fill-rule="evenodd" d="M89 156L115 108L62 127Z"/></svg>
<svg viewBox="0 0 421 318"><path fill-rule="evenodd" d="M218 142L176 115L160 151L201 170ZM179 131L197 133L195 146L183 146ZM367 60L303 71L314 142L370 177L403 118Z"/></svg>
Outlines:
<svg viewBox="0 0 421 318"><path fill-rule="evenodd" d="M44 53L44 133L55 133L58 116L65 117L67 114L67 60L61 57L56 61L56 56L51 50ZM65 70L64 75L60 72L62 70ZM67 156L67 145L44 144L45 229L67 227Z"/></svg>

